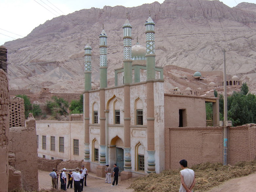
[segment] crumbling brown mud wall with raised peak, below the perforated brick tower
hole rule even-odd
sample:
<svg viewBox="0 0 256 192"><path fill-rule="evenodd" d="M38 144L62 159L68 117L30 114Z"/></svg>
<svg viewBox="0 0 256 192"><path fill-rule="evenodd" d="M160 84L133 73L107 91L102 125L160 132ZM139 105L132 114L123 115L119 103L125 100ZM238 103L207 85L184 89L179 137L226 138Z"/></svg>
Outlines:
<svg viewBox="0 0 256 192"><path fill-rule="evenodd" d="M9 163L21 172L22 188L38 190L36 129L31 114L25 127L10 128L8 150L11 157Z"/></svg>

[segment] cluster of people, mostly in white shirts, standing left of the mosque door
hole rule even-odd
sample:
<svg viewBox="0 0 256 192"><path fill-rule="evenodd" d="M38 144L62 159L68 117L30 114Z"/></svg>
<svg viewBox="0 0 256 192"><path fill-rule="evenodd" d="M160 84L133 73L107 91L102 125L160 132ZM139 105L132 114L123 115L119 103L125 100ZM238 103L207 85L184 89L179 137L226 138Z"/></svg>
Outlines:
<svg viewBox="0 0 256 192"><path fill-rule="evenodd" d="M75 172L72 172L71 170L69 171L68 174L68 186L66 189L66 184L67 184L67 176L66 176L66 168L63 168L62 173L60 174L60 189L66 191L69 186L70 188L73 188L73 180L74 180L74 190L75 192L81 192L83 191L83 186L86 185L86 176L88 175L88 170L82 165L82 168L76 168ZM53 169L53 171L49 174L52 177L52 184L53 188L57 189L58 188L58 170Z"/></svg>

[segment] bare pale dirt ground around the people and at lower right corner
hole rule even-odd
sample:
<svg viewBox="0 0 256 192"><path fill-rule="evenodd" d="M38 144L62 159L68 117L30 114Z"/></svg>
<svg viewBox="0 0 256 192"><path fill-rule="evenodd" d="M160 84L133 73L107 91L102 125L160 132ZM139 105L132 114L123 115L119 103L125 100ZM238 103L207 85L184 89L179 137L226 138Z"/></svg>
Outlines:
<svg viewBox="0 0 256 192"><path fill-rule="evenodd" d="M39 190L51 189L52 180L48 171L38 170ZM112 178L113 180L113 178ZM118 186L111 187L111 184L105 183L104 178L96 177L96 174L89 173L87 176L87 186L84 186L85 192L133 192L132 189L127 189L134 179L127 181L119 181ZM223 184L208 190L207 192L252 192L256 188L256 173L246 177L235 178L225 181ZM60 182L60 181L59 181ZM60 187L60 186L59 186ZM73 192L68 189L67 192Z"/></svg>

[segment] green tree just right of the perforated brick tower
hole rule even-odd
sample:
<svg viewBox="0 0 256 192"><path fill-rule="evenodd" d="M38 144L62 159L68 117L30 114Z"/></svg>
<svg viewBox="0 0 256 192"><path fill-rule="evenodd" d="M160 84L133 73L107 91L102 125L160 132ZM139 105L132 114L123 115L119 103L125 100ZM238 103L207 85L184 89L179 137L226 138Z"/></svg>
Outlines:
<svg viewBox="0 0 256 192"><path fill-rule="evenodd" d="M42 110L40 106L37 104L31 104L30 98L26 95L16 95L16 97L20 97L24 99L25 106L25 118L29 117L29 113L32 113L34 117L37 117L42 114Z"/></svg>

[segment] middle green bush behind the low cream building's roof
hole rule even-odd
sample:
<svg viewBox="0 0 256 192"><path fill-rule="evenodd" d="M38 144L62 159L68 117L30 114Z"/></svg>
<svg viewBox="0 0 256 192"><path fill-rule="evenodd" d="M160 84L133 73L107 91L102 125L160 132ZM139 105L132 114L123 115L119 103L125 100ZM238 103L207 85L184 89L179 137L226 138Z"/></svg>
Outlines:
<svg viewBox="0 0 256 192"><path fill-rule="evenodd" d="M69 103L63 98L52 96L53 101L46 101L46 106L51 110L52 116L58 118L59 115L68 114Z"/></svg>

